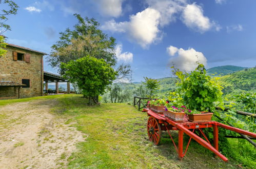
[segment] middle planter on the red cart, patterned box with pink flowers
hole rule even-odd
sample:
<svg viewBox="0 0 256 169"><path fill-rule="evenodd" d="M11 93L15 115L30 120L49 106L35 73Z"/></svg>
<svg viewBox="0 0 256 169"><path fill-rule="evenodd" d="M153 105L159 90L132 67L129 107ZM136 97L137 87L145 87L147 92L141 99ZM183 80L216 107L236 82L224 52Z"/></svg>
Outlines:
<svg viewBox="0 0 256 169"><path fill-rule="evenodd" d="M184 120L184 110L176 108L174 105L169 107L170 103L165 104L166 107L164 108L164 115L174 121L183 121Z"/></svg>

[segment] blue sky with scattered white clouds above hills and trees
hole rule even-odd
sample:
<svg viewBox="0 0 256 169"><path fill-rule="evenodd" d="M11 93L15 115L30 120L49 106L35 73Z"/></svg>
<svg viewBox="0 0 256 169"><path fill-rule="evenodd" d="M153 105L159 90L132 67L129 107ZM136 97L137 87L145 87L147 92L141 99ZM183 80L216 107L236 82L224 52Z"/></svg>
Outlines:
<svg viewBox="0 0 256 169"><path fill-rule="evenodd" d="M200 60L207 68L256 65L256 1L58 0L22 1L7 42L50 53L59 32L72 28L74 13L94 17L116 38L119 62L132 66L133 81L171 76ZM0 4L0 9L5 8ZM44 57L44 70L57 73Z"/></svg>

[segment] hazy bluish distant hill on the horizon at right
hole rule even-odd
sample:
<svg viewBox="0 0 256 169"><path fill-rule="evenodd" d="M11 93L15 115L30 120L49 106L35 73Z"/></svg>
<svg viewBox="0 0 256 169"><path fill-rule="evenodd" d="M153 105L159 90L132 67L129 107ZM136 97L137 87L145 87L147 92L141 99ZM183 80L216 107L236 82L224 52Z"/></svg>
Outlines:
<svg viewBox="0 0 256 169"><path fill-rule="evenodd" d="M218 67L210 68L210 69L206 70L206 72L207 72L207 75L216 74L215 76L218 76L218 75L223 76L223 75L227 75L227 74L241 71L244 69L246 69L246 68L239 67L239 66L226 65L226 66L218 66Z"/></svg>

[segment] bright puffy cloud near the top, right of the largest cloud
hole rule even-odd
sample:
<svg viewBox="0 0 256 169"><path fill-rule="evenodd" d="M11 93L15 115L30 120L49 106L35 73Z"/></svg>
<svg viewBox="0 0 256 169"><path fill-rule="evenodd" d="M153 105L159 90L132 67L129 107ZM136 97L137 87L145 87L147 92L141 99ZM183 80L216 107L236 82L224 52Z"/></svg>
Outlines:
<svg viewBox="0 0 256 169"><path fill-rule="evenodd" d="M204 16L204 11L201 6L188 4L182 13L182 22L189 28L201 33L215 28L219 31L221 27L215 22L211 22L207 16Z"/></svg>

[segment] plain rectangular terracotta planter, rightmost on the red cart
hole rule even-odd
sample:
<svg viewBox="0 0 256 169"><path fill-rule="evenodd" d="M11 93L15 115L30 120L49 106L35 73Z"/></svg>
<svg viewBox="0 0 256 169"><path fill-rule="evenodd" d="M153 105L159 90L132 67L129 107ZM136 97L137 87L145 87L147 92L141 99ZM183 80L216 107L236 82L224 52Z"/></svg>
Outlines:
<svg viewBox="0 0 256 169"><path fill-rule="evenodd" d="M213 113L210 112L199 112L197 110L187 109L185 113L188 115L189 121L208 121L211 120Z"/></svg>

